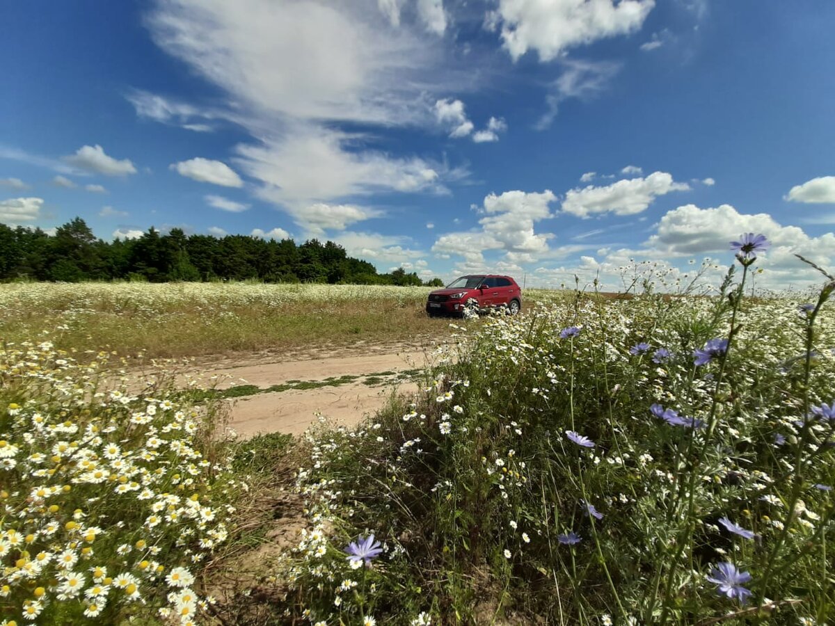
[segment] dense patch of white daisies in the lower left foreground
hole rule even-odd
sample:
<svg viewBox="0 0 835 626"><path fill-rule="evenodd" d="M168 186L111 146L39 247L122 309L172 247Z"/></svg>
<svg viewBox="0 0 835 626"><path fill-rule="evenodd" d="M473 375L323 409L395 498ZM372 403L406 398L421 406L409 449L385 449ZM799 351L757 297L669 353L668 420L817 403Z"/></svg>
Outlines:
<svg viewBox="0 0 835 626"><path fill-rule="evenodd" d="M195 572L228 536L235 482L201 452L205 409L116 388L106 360L0 350L3 610L75 623L136 605L195 623Z"/></svg>

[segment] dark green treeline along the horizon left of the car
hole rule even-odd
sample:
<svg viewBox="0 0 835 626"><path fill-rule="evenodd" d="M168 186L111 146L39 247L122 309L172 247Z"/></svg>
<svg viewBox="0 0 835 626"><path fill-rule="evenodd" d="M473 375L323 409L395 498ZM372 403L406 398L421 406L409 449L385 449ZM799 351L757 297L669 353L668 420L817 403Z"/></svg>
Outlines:
<svg viewBox="0 0 835 626"><path fill-rule="evenodd" d="M262 240L246 235L163 235L151 228L137 239L97 239L81 218L54 235L39 228L0 224L0 280L247 280L265 282L423 285L402 268L377 274L367 261L348 256L341 245L308 240ZM433 279L428 285L443 285Z"/></svg>

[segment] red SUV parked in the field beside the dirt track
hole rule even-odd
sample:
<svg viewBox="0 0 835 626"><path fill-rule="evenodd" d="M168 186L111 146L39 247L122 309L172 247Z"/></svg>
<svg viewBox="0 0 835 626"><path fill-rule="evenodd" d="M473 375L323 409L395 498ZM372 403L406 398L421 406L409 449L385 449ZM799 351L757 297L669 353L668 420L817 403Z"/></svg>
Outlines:
<svg viewBox="0 0 835 626"><path fill-rule="evenodd" d="M442 314L463 316L472 307L489 310L506 306L512 316L522 308L522 290L510 276L478 274L462 276L444 289L429 294L426 312L429 316Z"/></svg>

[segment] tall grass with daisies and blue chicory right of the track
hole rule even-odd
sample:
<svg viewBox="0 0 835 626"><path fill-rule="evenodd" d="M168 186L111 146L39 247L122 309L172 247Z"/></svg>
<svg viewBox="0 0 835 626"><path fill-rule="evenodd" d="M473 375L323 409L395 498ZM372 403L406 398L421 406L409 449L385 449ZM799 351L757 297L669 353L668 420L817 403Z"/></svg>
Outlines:
<svg viewBox="0 0 835 626"><path fill-rule="evenodd" d="M291 613L835 618L835 285L749 302L751 256L713 298L577 292L495 318L413 404L311 432ZM352 568L345 549L371 533L382 554Z"/></svg>

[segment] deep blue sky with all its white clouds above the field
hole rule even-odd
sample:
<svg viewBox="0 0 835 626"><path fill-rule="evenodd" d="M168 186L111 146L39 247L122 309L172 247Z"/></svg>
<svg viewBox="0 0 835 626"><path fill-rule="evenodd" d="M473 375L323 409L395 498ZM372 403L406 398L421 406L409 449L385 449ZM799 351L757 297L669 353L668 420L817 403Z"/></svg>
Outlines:
<svg viewBox="0 0 835 626"><path fill-rule="evenodd" d="M835 265L835 3L4 3L0 222L335 240L378 270Z"/></svg>

